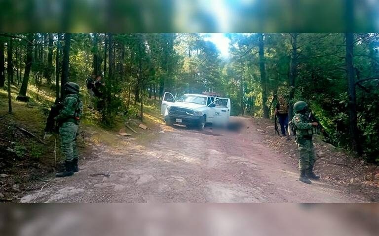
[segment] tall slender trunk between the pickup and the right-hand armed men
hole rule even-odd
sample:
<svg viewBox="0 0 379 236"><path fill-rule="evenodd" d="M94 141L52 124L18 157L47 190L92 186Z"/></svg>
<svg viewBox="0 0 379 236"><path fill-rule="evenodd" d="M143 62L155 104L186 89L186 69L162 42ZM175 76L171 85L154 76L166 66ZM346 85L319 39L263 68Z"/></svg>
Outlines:
<svg viewBox="0 0 379 236"><path fill-rule="evenodd" d="M262 88L262 106L263 106L263 118L268 118L267 107L267 79L265 69L265 48L264 48L264 35L260 33L259 37L259 68L261 71L261 88Z"/></svg>

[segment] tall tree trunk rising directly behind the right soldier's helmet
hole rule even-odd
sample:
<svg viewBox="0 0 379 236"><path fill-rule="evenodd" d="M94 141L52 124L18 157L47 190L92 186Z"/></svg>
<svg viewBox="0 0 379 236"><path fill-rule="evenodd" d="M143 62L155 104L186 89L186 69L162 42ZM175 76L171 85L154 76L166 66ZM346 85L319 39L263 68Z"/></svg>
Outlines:
<svg viewBox="0 0 379 236"><path fill-rule="evenodd" d="M298 34L290 34L291 37L291 62L290 62L290 76L289 76L289 86L290 86L290 94L289 94L289 109L288 109L288 117L289 120L292 120L293 117L293 106L294 106L294 97L295 97L295 81L297 76L297 68L298 68L298 55L297 55L297 39Z"/></svg>

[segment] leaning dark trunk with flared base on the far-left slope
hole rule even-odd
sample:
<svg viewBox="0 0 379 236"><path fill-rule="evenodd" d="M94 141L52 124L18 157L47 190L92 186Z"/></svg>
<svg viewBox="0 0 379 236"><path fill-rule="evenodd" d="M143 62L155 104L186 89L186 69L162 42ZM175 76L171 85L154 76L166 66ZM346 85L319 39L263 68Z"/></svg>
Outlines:
<svg viewBox="0 0 379 236"><path fill-rule="evenodd" d="M22 80L20 92L18 93L18 96L17 96L17 100L19 101L28 101L28 98L26 97L26 91L28 90L30 69L32 68L32 61L33 61L33 41L34 41L34 34L28 34L28 45L26 49L24 78Z"/></svg>

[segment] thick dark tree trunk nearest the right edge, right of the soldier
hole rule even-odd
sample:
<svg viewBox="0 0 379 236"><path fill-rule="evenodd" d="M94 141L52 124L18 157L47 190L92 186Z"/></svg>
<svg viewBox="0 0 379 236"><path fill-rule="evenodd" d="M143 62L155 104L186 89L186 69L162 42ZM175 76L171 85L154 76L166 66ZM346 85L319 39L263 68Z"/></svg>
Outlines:
<svg viewBox="0 0 379 236"><path fill-rule="evenodd" d="M361 154L359 147L359 134L357 127L357 101L355 92L355 77L353 66L353 33L346 33L346 78L348 83L348 97L349 97L349 135L351 149Z"/></svg>

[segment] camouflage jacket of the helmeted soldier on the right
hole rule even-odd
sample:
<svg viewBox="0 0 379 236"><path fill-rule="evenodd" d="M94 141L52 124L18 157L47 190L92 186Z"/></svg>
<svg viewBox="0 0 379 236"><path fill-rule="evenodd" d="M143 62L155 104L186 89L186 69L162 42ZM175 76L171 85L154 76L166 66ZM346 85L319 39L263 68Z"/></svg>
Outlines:
<svg viewBox="0 0 379 236"><path fill-rule="evenodd" d="M296 113L292 118L292 124L295 125L296 139L311 139L313 134L317 134L317 130L312 126L311 120L304 114Z"/></svg>

